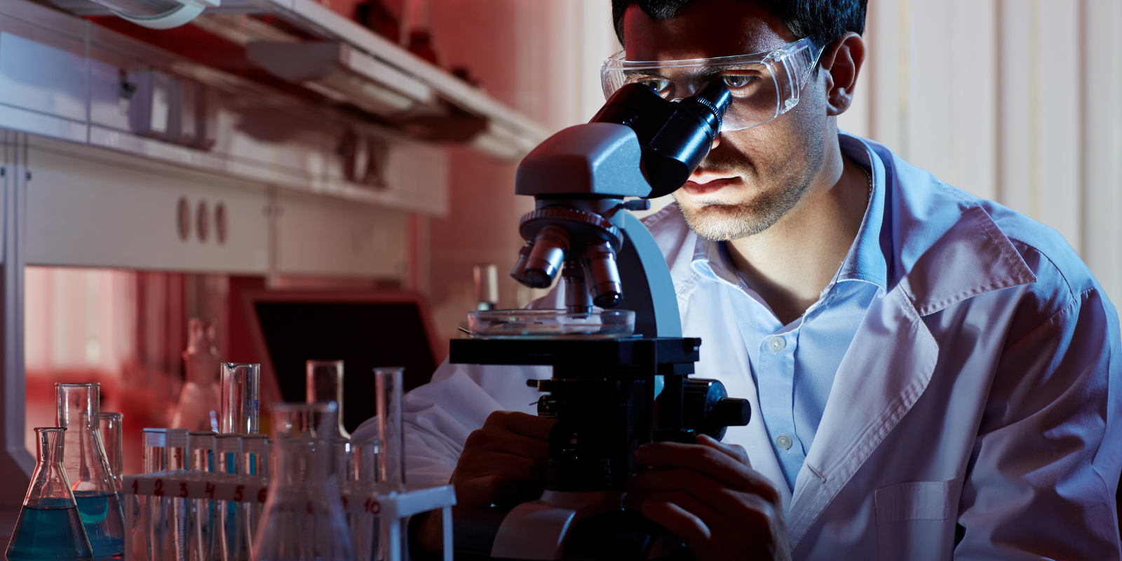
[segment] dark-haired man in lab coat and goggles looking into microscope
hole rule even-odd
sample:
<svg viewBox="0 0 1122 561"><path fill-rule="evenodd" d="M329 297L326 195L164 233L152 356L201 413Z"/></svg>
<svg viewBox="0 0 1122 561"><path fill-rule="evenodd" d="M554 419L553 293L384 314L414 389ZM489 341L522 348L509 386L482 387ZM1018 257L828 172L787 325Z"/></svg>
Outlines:
<svg viewBox="0 0 1122 561"><path fill-rule="evenodd" d="M1052 230L837 131L864 3L613 2L628 61L822 47L793 109L723 131L645 221L698 376L753 417L642 447L625 507L707 560L1119 559L1116 313ZM407 398L412 480L536 498L550 421L522 381L548 375L442 366Z"/></svg>

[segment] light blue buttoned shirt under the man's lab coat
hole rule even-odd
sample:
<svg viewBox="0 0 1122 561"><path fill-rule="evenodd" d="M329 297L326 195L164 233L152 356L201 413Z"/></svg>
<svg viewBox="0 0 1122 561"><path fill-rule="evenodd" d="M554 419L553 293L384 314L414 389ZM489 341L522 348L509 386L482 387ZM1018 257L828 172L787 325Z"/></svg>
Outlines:
<svg viewBox="0 0 1122 561"><path fill-rule="evenodd" d="M863 147L843 145L843 153L866 172L872 169ZM787 325L737 274L725 242L699 240L705 247L698 248L692 264L702 275L737 288L730 305L758 388L757 414L791 489L818 432L842 357L873 298L885 292L880 241L884 194L875 181L870 183L870 203L842 267L818 301Z"/></svg>

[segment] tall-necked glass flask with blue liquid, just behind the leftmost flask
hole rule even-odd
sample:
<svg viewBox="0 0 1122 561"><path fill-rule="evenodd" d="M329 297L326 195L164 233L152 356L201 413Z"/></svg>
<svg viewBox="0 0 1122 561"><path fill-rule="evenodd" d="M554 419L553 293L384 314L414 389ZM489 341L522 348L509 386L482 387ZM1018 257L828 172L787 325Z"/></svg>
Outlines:
<svg viewBox="0 0 1122 561"><path fill-rule="evenodd" d="M63 469L74 491L77 512L93 546L93 557L121 559L125 511L99 427L101 385L55 384L58 426L66 427Z"/></svg>

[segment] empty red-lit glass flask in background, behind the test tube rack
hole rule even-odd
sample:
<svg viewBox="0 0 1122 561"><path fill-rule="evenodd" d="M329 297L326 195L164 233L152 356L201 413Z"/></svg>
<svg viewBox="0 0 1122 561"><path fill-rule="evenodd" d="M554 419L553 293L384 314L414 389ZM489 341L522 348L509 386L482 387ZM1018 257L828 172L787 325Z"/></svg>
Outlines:
<svg viewBox="0 0 1122 561"><path fill-rule="evenodd" d="M187 322L187 350L183 351L185 381L172 416L173 429L218 432L219 368L214 325L192 318Z"/></svg>

